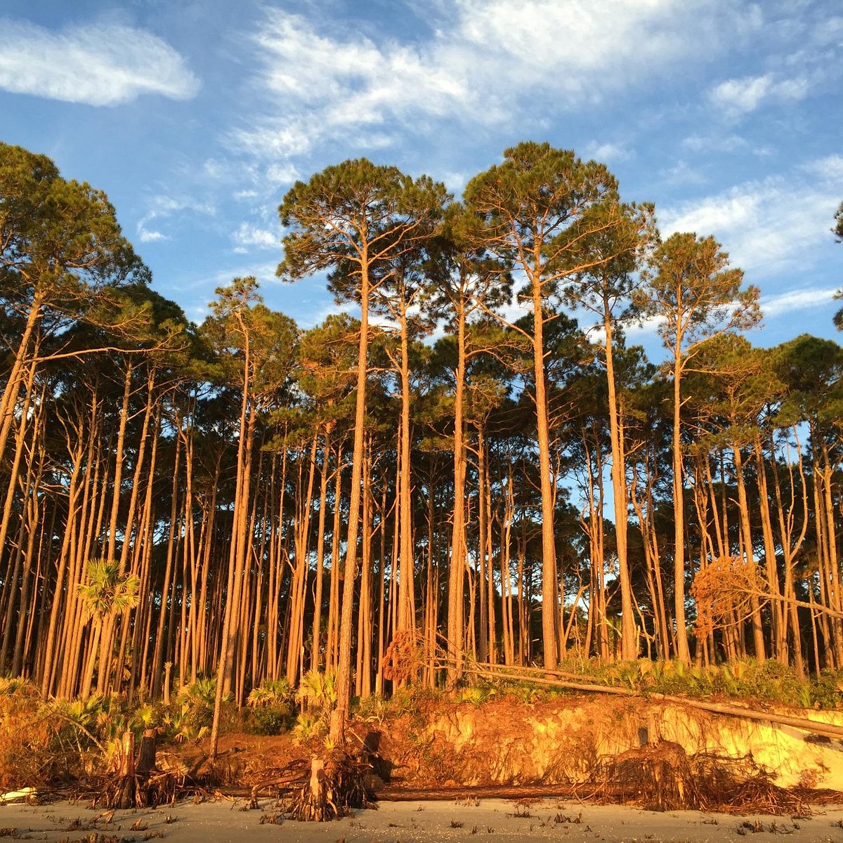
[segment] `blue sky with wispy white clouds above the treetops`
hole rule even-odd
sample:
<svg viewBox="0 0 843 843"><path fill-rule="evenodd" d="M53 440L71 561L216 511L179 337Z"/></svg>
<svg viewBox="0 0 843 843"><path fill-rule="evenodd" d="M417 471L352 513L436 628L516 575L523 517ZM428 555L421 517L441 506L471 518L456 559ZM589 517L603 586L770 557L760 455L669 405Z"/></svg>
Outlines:
<svg viewBox="0 0 843 843"><path fill-rule="evenodd" d="M0 139L105 190L196 320L239 275L304 327L334 309L274 277L297 178L364 155L459 194L546 140L714 234L756 344L836 337L841 91L838 0L0 0Z"/></svg>

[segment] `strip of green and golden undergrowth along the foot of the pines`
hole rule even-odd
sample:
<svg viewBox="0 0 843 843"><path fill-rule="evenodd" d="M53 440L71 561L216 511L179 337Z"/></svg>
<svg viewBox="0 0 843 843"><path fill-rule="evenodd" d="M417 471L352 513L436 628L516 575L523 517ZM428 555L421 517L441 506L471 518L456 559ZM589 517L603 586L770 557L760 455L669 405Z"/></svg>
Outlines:
<svg viewBox="0 0 843 843"><path fill-rule="evenodd" d="M703 667L644 659L625 663L569 659L559 669L566 674L563 681L628 688L645 696L734 697L797 708L843 709L843 670L802 679L792 668L775 661ZM564 694L563 689L529 681L471 681L466 674L456 689L409 685L389 698L372 696L356 701L354 711L367 722L405 717L407 728L421 733L432 707L481 706L493 699L529 706ZM174 695L169 706L144 700L129 706L126 698L118 695L45 700L30 682L0 679L0 787L108 771L115 766L126 731L140 738L144 729L154 728L164 741L196 743L210 730L215 695L216 680L199 678ZM292 730L301 742L326 741L334 706L336 678L330 672L306 674L298 690L283 679L268 680L251 691L243 710L230 698L226 700L223 732L277 734Z"/></svg>

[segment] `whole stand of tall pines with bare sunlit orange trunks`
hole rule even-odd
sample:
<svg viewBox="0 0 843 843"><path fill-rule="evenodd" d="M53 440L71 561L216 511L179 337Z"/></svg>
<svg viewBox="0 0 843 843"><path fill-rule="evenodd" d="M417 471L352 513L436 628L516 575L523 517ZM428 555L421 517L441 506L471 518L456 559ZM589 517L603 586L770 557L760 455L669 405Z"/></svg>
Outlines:
<svg viewBox="0 0 843 843"><path fill-rule="evenodd" d="M716 239L540 142L459 200L347 160L277 223L336 313L237 277L196 325L104 193L0 144L0 674L204 682L215 741L282 685L330 681L341 736L472 665L843 670L843 348L754 346Z"/></svg>

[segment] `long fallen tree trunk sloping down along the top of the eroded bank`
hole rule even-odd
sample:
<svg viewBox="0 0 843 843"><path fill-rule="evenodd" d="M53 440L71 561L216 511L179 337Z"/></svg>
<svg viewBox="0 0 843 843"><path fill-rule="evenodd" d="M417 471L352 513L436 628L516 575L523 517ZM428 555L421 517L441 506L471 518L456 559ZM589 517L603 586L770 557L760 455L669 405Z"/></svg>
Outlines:
<svg viewBox="0 0 843 843"><path fill-rule="evenodd" d="M679 706L688 706L689 708L696 708L701 711L711 711L713 714L779 723L782 726L790 726L801 729L804 732L823 735L825 738L843 740L843 727L835 726L833 723L819 722L817 720L811 720L808 717L792 717L791 715L780 714L776 711L759 711L728 703L695 700L685 696L643 693L640 690L615 688L611 685L593 685L592 683L583 681L585 677L577 676L577 674L566 674L560 670L520 667L513 669L494 664L464 664L463 669L465 673L474 674L475 676L486 676L493 679L513 679L515 681L531 682L534 685L546 685L551 688L579 690L587 694L615 694L618 696L644 697L647 700L672 702ZM549 677L560 677L560 679ZM572 679L579 679L580 681L571 681Z"/></svg>

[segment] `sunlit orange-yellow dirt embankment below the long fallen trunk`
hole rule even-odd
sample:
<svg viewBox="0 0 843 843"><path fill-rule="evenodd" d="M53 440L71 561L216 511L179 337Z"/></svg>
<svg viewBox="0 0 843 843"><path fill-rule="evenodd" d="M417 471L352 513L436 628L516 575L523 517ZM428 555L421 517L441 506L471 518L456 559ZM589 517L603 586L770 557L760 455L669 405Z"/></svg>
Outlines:
<svg viewBox="0 0 843 843"><path fill-rule="evenodd" d="M843 724L839 712L822 717ZM688 756L743 760L781 787L843 790L840 741L646 699L434 701L395 719L361 723L357 732L367 728L378 736L379 754L395 765L394 776L413 787L584 782L631 750L669 742Z"/></svg>

